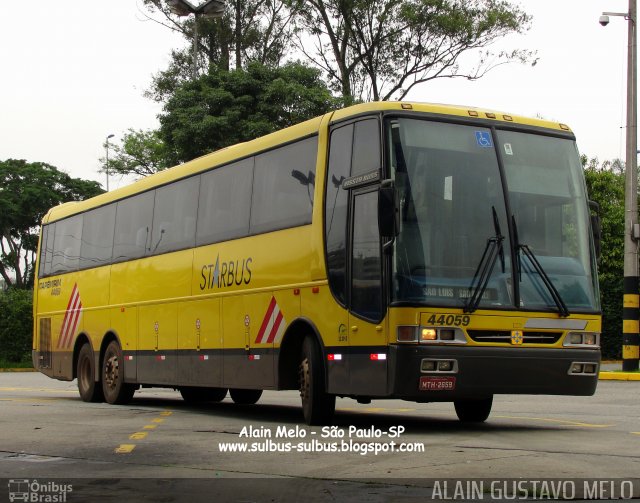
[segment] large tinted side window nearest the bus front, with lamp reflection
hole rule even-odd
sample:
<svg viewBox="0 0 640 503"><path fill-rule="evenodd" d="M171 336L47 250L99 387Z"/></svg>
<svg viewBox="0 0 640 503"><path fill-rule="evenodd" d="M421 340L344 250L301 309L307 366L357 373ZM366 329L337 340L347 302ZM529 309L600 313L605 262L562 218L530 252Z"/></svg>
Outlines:
<svg viewBox="0 0 640 503"><path fill-rule="evenodd" d="M311 223L317 137L255 158L252 234Z"/></svg>

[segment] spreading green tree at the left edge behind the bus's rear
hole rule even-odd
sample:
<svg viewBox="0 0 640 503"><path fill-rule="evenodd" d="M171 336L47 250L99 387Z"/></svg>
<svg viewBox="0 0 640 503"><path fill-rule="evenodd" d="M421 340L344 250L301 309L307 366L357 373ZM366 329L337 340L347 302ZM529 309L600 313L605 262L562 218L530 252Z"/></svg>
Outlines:
<svg viewBox="0 0 640 503"><path fill-rule="evenodd" d="M6 283L33 283L37 229L49 208L102 192L98 182L71 178L43 162L0 161L0 275Z"/></svg>

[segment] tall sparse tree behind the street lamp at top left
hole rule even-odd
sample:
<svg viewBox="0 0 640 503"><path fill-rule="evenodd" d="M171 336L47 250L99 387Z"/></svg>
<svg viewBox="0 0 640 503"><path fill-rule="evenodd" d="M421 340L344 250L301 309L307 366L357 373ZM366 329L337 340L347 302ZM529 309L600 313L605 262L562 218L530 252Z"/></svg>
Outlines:
<svg viewBox="0 0 640 503"><path fill-rule="evenodd" d="M171 12L166 0L144 0L151 19L184 35L188 47L174 50L169 68L158 72L146 93L164 102L173 91L193 77L192 42L198 23L197 68L230 70L250 62L277 67L291 50L295 11L283 0L228 0L221 19L199 16L186 20Z"/></svg>

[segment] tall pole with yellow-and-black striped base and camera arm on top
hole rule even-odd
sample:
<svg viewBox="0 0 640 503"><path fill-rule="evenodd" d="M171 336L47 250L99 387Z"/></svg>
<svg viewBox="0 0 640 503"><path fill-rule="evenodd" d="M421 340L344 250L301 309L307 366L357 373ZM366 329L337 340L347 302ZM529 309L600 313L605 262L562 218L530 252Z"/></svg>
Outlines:
<svg viewBox="0 0 640 503"><path fill-rule="evenodd" d="M609 24L609 16L628 21L627 49L627 152L624 192L624 302L622 313L622 370L638 370L640 363L640 288L638 274L638 130L637 130L637 57L636 0L629 0L628 12L603 12L600 24Z"/></svg>

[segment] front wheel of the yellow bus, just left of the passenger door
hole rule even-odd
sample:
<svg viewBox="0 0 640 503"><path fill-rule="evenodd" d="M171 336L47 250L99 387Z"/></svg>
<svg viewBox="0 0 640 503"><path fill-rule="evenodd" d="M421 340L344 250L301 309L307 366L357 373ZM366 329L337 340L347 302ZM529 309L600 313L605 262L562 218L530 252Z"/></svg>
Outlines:
<svg viewBox="0 0 640 503"><path fill-rule="evenodd" d="M299 367L302 413L309 426L331 423L336 408L335 395L325 389L320 348L312 337L305 337Z"/></svg>

